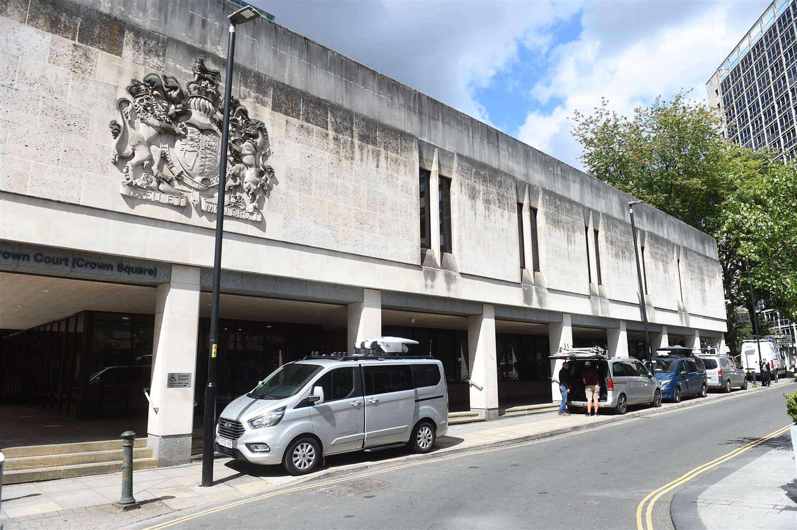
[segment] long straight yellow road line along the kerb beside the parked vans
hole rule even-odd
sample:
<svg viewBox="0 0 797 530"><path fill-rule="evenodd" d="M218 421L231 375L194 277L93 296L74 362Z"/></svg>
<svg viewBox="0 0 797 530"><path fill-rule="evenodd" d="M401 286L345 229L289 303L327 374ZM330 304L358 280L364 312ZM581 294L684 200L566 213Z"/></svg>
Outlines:
<svg viewBox="0 0 797 530"><path fill-rule="evenodd" d="M180 523L184 523L186 521L192 520L192 519L196 519L197 517L210 515L211 513L215 513L215 512L221 512L222 510L226 510L228 508L234 508L236 506L240 506L241 504L248 504L250 502L262 501L264 499L269 499L271 497L277 497L279 495L285 495L285 493L296 493L296 492L301 492L301 491L307 491L308 489L318 489L320 487L327 486L327 485L340 484L341 482L356 481L356 480L359 480L359 479L362 479L362 478L365 478L365 477L373 477L374 475L380 475L380 474L383 474L383 473L389 473L391 471L396 471L398 469L406 469L406 468L414 467L416 465L433 464L435 462L442 462L442 461L454 460L454 459L462 458L462 457L473 456L474 454L494 453L496 451L503 451L503 450L508 450L508 449L516 449L518 447L533 446L535 444L543 443L543 442L553 442L554 440L560 440L562 438L569 438L571 436L575 436L576 434L592 433L592 432L595 432L596 430L606 429L607 427L625 425L626 423L629 423L629 422L635 422L638 419L639 418L626 418L626 419L620 420L619 422L612 422L612 423L607 423L606 425L599 425L599 426L595 426L595 427L591 427L591 428L587 428L587 429L583 429L583 430L576 430L576 431L571 432L571 433L559 434L559 435L553 436L551 438L540 438L539 440L529 440L528 442L513 443L513 444L508 444L506 446L491 447L491 448L481 449L481 450L473 450L473 451L468 451L468 452L465 452L465 453L452 454L452 455L449 455L449 456L446 456L446 457L430 458L428 460L421 460L421 461L409 462L407 464L402 464L402 465L395 465L393 467L386 468L386 469L378 469L378 470L369 471L369 472L366 472L366 473L359 473L357 475L352 475L351 477L340 477L340 478L335 478L335 479L331 479L331 480L328 480L328 481L312 482L311 484L308 484L308 485L296 486L294 488L289 488L289 489L281 489L281 490L276 491L276 492L265 493L265 494L259 495L257 497L252 497L252 498L249 498L249 499L243 499L241 501L232 502L230 504L224 504L223 506L219 506L218 508L206 509L206 510L204 510L202 512L197 512L197 513L194 513L192 515L179 517L179 518L177 518L175 520L166 521L166 522L164 522L162 524L155 524L155 525L153 525L151 527L145 528L144 530L159 530L160 528L167 528L167 527L173 526L175 524L180 524Z"/></svg>

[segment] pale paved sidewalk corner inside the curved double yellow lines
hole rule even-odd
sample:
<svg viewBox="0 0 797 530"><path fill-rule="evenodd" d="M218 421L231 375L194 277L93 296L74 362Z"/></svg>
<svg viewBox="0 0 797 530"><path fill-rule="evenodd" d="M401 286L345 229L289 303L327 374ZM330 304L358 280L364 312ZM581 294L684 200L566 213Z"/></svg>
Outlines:
<svg viewBox="0 0 797 530"><path fill-rule="evenodd" d="M697 496L705 528L797 528L797 481L791 437Z"/></svg>

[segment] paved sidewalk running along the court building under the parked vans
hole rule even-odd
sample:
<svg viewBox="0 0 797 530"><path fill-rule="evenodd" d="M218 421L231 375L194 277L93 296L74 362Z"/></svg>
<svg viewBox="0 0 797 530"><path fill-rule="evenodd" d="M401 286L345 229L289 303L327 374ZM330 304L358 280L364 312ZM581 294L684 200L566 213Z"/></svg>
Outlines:
<svg viewBox="0 0 797 530"><path fill-rule="evenodd" d="M779 384L771 387L771 391L790 386ZM735 391L731 395L709 394L707 398L689 399L679 404L665 403L661 409L632 409L626 416L607 414L587 418L580 414L558 416L556 412L547 412L502 418L496 422L466 423L451 426L446 436L438 438L438 449L429 455L408 454L402 449L349 453L329 457L324 469L305 477L290 477L279 466L255 466L218 459L214 463L214 485L200 488L198 484L202 466L199 463L144 469L135 471L133 477L134 497L142 506L131 512L119 512L112 507L112 503L120 497L121 473L10 485L2 489L0 523L4 524L6 530L120 528L176 510L248 497L321 477L344 475L391 465L397 461L435 457L442 453L548 438L624 418L653 414L654 411L694 406L723 398L740 398L754 391L767 389Z"/></svg>

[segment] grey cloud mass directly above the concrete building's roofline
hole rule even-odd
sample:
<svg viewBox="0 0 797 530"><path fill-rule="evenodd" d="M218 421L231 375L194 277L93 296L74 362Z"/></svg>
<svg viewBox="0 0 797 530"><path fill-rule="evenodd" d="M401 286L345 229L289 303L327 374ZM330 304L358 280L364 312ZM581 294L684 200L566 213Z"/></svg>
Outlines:
<svg viewBox="0 0 797 530"><path fill-rule="evenodd" d="M516 60L519 46L543 52L546 29L575 2L249 0L277 22L478 119L475 92Z"/></svg>

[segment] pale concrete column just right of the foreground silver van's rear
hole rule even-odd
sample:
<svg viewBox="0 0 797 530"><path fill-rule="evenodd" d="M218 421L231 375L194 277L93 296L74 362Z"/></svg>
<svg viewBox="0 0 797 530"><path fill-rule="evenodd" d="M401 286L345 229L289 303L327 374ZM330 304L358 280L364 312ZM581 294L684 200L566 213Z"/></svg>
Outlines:
<svg viewBox="0 0 797 530"><path fill-rule="evenodd" d="M492 304L484 304L481 315L468 317L468 359L470 410L488 420L498 419L498 366L496 361L496 320Z"/></svg>

